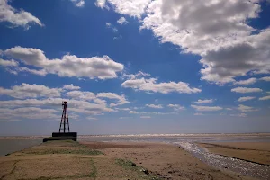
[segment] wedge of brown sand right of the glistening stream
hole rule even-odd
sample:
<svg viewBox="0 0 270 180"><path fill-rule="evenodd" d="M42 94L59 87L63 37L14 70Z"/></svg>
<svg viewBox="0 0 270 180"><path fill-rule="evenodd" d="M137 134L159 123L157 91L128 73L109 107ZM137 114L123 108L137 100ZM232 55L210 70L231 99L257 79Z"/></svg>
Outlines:
<svg viewBox="0 0 270 180"><path fill-rule="evenodd" d="M270 142L199 143L211 153L270 166Z"/></svg>

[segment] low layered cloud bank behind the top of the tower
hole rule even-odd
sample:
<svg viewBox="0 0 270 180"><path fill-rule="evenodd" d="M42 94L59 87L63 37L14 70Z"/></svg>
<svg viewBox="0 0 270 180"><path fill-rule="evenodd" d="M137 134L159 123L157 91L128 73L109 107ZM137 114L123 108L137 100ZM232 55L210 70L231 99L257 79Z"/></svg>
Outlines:
<svg viewBox="0 0 270 180"><path fill-rule="evenodd" d="M3 111L8 110L5 112L9 113L14 112L14 109L18 109L20 107L28 108L27 111L30 111L31 108L32 110L38 110L37 108L41 108L48 111L53 110L51 112L61 112L62 102L67 101L68 112L71 115L70 117L76 120L79 119L81 114L102 115L104 112L130 111L129 108L112 108L121 104L130 103L123 94L94 94L92 92L78 91L79 89L79 86L75 86L73 84L63 85L62 88L49 88L45 85L29 85L25 83L22 85L14 85L10 89L0 87L0 95L9 95L11 97L20 99L0 101L0 109ZM107 103L104 99L109 99L114 103ZM21 112L22 111L23 109L21 109ZM0 119L8 119L9 113L2 113L0 115ZM28 112L25 113L27 114ZM35 113L36 115L39 114L38 111ZM44 114L45 113L46 112L44 112ZM43 116L40 115L40 117ZM48 112L47 119L53 119L53 117L54 115L51 115ZM21 119L35 119L35 116L21 116ZM18 120L20 120L20 118ZM8 121L13 121L13 119L8 119Z"/></svg>

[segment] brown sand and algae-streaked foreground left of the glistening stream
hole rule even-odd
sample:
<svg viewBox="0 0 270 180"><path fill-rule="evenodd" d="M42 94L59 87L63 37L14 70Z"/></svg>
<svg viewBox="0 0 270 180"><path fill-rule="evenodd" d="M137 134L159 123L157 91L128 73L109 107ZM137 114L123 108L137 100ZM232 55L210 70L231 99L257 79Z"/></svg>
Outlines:
<svg viewBox="0 0 270 180"><path fill-rule="evenodd" d="M0 179L253 179L161 143L55 141L0 157Z"/></svg>

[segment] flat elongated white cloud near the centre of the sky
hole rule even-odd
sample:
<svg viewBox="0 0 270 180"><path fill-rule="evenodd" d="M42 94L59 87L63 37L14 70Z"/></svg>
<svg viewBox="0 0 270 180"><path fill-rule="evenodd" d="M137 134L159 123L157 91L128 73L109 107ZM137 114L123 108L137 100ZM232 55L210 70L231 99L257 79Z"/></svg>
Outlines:
<svg viewBox="0 0 270 180"><path fill-rule="evenodd" d="M161 94L168 94L173 92L179 94L192 94L200 93L202 91L201 89L190 87L187 83L184 82L157 83L157 78L138 78L139 76L148 76L148 74L130 75L130 79L123 82L121 86L125 88L133 88L135 90Z"/></svg>

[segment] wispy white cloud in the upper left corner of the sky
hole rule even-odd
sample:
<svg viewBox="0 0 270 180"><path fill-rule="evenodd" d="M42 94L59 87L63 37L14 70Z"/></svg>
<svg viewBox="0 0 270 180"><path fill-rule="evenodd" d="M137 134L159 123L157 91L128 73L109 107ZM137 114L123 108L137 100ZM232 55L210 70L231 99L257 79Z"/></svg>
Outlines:
<svg viewBox="0 0 270 180"><path fill-rule="evenodd" d="M39 18L33 16L31 13L23 9L18 11L7 3L8 0L0 0L0 22L12 23L14 27L23 26L26 30L30 28L30 23L44 26Z"/></svg>

